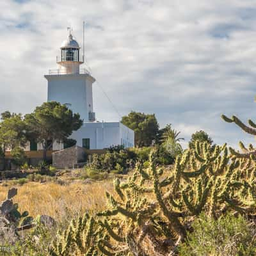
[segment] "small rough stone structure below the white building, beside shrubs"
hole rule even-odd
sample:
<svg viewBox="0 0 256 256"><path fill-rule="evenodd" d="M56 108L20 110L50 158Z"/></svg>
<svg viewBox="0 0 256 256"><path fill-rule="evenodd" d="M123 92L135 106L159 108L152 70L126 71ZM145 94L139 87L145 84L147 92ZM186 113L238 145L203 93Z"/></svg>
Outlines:
<svg viewBox="0 0 256 256"><path fill-rule="evenodd" d="M85 161L82 147L74 146L52 153L52 166L56 168L74 168L77 163Z"/></svg>

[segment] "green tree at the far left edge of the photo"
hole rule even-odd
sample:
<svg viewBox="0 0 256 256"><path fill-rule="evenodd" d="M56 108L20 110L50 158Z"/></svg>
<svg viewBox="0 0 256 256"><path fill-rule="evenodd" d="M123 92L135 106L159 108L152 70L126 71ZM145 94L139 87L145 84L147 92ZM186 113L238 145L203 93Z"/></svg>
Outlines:
<svg viewBox="0 0 256 256"><path fill-rule="evenodd" d="M5 169L6 148L12 150L15 147L24 147L27 142L26 125L21 114L11 114L6 111L1 114L0 124L0 145L2 147L1 156Z"/></svg>

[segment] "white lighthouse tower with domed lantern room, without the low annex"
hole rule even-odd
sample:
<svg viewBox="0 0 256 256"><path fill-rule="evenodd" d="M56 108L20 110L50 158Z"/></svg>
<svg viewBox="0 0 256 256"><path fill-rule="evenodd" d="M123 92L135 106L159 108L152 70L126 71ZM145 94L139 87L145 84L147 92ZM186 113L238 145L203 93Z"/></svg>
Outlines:
<svg viewBox="0 0 256 256"><path fill-rule="evenodd" d="M79 113L84 122L93 122L92 84L95 79L85 68L80 70L84 56L81 58L79 44L68 29L68 38L60 47L60 58L56 58L58 69L49 70L49 74L45 75L48 81L47 101L67 104L73 113Z"/></svg>

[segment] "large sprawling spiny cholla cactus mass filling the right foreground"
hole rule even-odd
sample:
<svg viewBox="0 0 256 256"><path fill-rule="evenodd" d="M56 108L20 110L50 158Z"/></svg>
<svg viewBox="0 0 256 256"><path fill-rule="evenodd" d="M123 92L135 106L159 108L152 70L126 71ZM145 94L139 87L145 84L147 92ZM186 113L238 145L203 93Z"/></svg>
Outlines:
<svg viewBox="0 0 256 256"><path fill-rule="evenodd" d="M73 220L51 255L174 255L201 212L214 218L255 213L252 159L232 156L227 145L196 142L167 172L154 154L147 169L137 164L126 182L114 180L116 195L106 193L106 211Z"/></svg>

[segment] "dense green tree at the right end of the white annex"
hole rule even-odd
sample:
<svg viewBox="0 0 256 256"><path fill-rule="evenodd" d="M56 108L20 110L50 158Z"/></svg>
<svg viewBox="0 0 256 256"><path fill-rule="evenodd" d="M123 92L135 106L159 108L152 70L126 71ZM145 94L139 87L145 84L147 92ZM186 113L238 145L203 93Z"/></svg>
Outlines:
<svg viewBox="0 0 256 256"><path fill-rule="evenodd" d="M148 147L156 140L159 124L154 114L131 111L121 122L134 131L136 146Z"/></svg>

